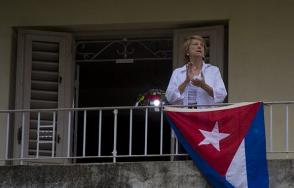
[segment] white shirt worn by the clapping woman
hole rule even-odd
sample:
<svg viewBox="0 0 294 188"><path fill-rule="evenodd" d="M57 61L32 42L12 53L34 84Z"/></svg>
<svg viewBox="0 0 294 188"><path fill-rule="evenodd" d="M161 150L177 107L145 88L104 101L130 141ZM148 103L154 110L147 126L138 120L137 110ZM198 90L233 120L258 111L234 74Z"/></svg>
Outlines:
<svg viewBox="0 0 294 188"><path fill-rule="evenodd" d="M191 103L197 103L198 105L210 105L223 102L227 96L227 91L219 68L203 62L201 72L203 74L205 83L213 89L213 97L208 95L208 93L202 88L194 86L191 83L189 83L184 92L180 94L178 89L179 85L182 84L186 79L186 65L184 65L173 71L165 94L167 101L170 104L178 105L188 105ZM188 94L191 94L191 91L196 92L194 95L194 100L196 101L191 101L191 97L189 100Z"/></svg>

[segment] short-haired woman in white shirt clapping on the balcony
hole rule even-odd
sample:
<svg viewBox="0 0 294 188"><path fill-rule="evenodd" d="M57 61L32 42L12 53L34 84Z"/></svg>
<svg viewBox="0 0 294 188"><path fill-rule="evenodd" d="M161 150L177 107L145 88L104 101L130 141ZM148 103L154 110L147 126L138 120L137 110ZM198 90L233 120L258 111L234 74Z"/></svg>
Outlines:
<svg viewBox="0 0 294 188"><path fill-rule="evenodd" d="M198 35L184 43L185 65L173 71L166 99L177 105L211 105L223 102L227 91L219 69L206 64L205 40Z"/></svg>

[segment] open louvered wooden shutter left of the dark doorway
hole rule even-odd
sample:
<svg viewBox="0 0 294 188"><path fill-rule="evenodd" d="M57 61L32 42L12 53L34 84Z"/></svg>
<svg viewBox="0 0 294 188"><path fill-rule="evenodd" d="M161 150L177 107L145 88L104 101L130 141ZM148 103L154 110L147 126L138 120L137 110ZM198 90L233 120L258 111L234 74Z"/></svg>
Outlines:
<svg viewBox="0 0 294 188"><path fill-rule="evenodd" d="M71 34L21 30L18 40L16 108L71 107L73 97ZM66 156L65 148L68 140L66 114L66 112L42 111L25 115L24 157ZM20 127L20 119L18 118L16 122L18 127ZM20 147L18 146L19 149Z"/></svg>

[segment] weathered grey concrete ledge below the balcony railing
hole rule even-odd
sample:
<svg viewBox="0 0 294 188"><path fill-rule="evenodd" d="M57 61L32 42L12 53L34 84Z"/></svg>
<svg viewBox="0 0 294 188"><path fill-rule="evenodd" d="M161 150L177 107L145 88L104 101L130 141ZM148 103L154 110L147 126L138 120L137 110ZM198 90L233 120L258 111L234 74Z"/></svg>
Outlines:
<svg viewBox="0 0 294 188"><path fill-rule="evenodd" d="M191 161L68 166L0 166L0 187L209 187ZM270 187L294 186L294 162L269 161Z"/></svg>

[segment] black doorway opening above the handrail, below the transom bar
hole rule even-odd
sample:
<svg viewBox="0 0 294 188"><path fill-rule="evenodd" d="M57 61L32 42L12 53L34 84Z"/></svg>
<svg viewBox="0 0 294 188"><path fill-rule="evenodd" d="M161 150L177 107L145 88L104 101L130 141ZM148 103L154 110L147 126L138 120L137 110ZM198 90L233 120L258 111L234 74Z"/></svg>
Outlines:
<svg viewBox="0 0 294 188"><path fill-rule="evenodd" d="M79 107L133 106L149 89L166 90L171 71L168 61L81 64Z"/></svg>

